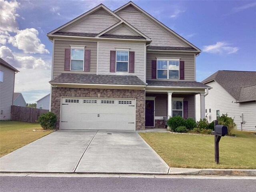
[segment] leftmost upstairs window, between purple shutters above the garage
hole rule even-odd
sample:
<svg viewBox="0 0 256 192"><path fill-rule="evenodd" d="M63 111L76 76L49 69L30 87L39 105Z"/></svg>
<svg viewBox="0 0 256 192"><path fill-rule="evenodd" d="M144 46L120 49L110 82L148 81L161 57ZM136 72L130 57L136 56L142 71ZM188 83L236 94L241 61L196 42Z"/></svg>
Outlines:
<svg viewBox="0 0 256 192"><path fill-rule="evenodd" d="M75 71L84 70L84 49L71 49L71 69Z"/></svg>

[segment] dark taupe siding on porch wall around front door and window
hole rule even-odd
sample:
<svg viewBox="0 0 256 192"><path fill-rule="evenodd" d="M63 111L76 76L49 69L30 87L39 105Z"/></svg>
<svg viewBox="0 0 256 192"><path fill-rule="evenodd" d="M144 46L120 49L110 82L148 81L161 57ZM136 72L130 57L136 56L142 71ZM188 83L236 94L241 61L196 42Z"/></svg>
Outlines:
<svg viewBox="0 0 256 192"><path fill-rule="evenodd" d="M147 96L155 98L155 116L156 117L167 117L167 94L153 94L146 93ZM173 98L184 98L184 101L188 101L188 117L195 118L195 100L192 94L172 94Z"/></svg>

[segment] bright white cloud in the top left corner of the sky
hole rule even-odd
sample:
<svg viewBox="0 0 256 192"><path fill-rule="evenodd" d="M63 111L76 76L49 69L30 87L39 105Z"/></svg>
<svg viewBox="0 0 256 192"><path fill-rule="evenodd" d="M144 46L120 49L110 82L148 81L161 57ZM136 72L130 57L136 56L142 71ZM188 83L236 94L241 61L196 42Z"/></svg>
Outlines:
<svg viewBox="0 0 256 192"><path fill-rule="evenodd" d="M19 8L19 3L16 1L0 0L0 30L8 32L16 32L18 30L16 17L19 15L16 13L17 8Z"/></svg>

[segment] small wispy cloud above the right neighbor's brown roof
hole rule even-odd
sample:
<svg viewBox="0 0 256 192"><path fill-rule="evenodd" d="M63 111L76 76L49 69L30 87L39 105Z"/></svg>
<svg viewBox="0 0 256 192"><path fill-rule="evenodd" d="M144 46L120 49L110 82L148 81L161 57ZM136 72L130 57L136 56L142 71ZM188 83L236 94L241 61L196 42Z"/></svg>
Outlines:
<svg viewBox="0 0 256 192"><path fill-rule="evenodd" d="M226 42L216 42L213 45L203 46L203 51L208 53L232 54L239 50L238 47L229 46Z"/></svg>

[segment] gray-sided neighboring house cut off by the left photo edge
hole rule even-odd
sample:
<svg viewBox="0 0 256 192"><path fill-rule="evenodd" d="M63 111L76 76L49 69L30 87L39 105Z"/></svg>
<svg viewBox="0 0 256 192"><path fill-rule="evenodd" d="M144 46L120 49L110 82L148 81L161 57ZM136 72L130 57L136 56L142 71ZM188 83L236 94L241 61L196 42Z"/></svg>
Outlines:
<svg viewBox="0 0 256 192"><path fill-rule="evenodd" d="M10 120L16 68L0 58L0 120Z"/></svg>

